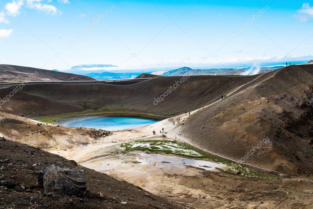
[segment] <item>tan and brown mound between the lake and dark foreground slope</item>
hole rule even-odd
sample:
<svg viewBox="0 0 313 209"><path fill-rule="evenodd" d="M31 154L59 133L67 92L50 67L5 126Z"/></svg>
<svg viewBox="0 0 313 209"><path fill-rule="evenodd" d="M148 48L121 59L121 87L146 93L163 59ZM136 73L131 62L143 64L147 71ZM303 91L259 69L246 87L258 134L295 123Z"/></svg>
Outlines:
<svg viewBox="0 0 313 209"><path fill-rule="evenodd" d="M73 149L110 135L109 131L62 127L0 112L0 137L42 150Z"/></svg>

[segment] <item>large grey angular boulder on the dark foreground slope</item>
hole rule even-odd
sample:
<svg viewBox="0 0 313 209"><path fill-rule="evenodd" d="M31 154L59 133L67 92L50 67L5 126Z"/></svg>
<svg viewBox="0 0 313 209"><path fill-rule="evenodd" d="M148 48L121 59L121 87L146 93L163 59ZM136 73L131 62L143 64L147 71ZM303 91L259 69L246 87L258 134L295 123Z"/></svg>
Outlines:
<svg viewBox="0 0 313 209"><path fill-rule="evenodd" d="M58 162L38 173L38 186L46 193L54 192L82 197L88 191L86 180L80 173Z"/></svg>

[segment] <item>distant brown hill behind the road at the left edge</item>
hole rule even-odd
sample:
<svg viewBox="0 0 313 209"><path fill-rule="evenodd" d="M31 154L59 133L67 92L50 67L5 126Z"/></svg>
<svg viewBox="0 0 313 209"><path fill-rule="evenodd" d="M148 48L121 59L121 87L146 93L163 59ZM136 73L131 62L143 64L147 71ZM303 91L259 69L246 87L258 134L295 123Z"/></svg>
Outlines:
<svg viewBox="0 0 313 209"><path fill-rule="evenodd" d="M84 75L62 73L53 70L43 70L16 65L0 64L0 82L85 81L85 80L95 80L95 79Z"/></svg>

